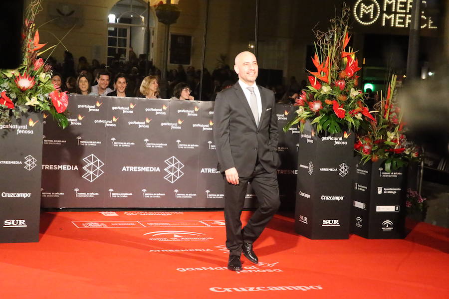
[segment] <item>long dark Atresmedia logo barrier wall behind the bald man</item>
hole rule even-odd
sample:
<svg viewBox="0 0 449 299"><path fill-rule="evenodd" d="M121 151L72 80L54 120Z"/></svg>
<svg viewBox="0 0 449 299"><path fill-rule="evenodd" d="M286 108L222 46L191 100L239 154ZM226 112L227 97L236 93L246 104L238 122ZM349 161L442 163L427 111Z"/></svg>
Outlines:
<svg viewBox="0 0 449 299"><path fill-rule="evenodd" d="M293 206L299 132L282 131L294 108L276 109L281 202ZM42 207L224 206L214 102L70 95L68 110L65 130L44 115Z"/></svg>

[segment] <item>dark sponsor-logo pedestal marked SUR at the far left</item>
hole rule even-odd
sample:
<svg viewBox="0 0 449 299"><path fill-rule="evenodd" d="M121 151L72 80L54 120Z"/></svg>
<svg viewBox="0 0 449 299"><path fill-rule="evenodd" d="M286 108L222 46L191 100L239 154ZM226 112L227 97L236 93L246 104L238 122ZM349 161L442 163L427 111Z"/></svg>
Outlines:
<svg viewBox="0 0 449 299"><path fill-rule="evenodd" d="M42 115L0 128L0 243L39 240Z"/></svg>

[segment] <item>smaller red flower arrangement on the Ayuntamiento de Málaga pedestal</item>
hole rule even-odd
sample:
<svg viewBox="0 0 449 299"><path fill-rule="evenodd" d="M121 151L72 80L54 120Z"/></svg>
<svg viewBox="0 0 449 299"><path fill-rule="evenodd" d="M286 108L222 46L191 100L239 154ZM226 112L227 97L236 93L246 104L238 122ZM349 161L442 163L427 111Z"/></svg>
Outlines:
<svg viewBox="0 0 449 299"><path fill-rule="evenodd" d="M385 159L385 170L391 172L419 159L419 149L407 141L402 111L396 99L396 75L392 76L386 95L381 92L374 108L375 121L369 124L366 134L357 137L354 149L361 161Z"/></svg>

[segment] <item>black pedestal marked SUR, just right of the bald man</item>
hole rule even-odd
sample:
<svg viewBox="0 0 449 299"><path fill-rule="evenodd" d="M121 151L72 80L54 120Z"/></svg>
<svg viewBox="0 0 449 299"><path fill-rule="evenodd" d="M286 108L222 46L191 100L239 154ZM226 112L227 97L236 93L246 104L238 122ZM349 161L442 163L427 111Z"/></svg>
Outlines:
<svg viewBox="0 0 449 299"><path fill-rule="evenodd" d="M295 230L311 239L349 238L354 133L299 134Z"/></svg>

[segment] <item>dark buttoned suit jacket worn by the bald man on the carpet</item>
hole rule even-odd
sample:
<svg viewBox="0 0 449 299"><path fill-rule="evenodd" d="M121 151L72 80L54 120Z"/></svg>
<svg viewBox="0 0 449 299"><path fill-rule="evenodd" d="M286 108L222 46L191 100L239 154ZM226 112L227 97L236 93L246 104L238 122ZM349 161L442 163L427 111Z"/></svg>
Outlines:
<svg viewBox="0 0 449 299"><path fill-rule="evenodd" d="M262 113L258 127L238 82L217 94L214 108L214 141L220 172L235 167L240 177L254 170L257 156L273 172L280 165L274 93L261 86Z"/></svg>

